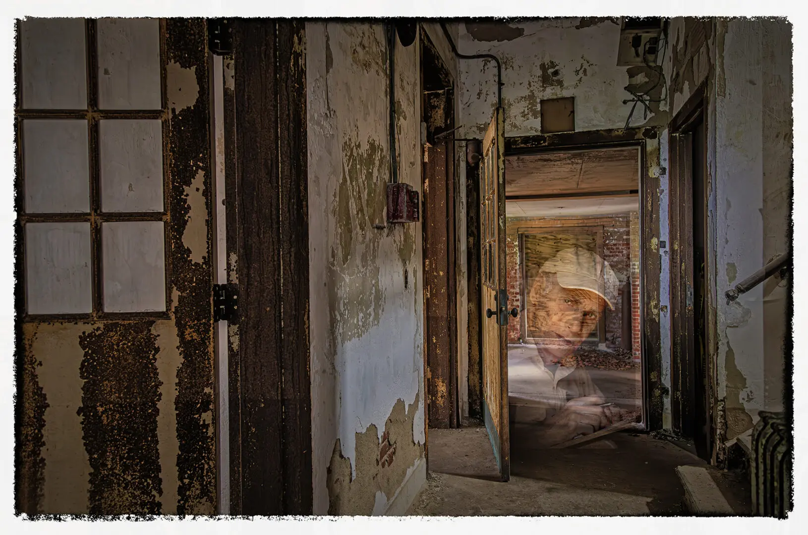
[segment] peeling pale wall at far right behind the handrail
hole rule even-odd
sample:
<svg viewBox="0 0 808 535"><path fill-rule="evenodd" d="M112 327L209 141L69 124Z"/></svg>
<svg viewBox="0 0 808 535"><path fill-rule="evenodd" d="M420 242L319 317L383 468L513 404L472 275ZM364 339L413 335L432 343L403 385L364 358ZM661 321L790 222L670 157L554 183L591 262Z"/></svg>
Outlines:
<svg viewBox="0 0 808 535"><path fill-rule="evenodd" d="M789 249L791 24L718 19L714 182L718 400L726 439L759 410L781 410L786 282L769 278L727 304L724 292ZM738 113L743 110L743 113ZM719 437L722 438L722 437Z"/></svg>

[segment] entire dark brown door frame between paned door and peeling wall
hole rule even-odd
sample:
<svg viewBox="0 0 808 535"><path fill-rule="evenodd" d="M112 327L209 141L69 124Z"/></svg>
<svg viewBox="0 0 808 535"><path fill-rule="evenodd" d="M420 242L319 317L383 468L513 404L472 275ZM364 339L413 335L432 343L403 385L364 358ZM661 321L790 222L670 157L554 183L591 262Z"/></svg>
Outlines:
<svg viewBox="0 0 808 535"><path fill-rule="evenodd" d="M229 340L231 514L311 514L305 50L297 46L305 22L230 23L225 202L227 253L238 258L228 276L239 287L238 342Z"/></svg>

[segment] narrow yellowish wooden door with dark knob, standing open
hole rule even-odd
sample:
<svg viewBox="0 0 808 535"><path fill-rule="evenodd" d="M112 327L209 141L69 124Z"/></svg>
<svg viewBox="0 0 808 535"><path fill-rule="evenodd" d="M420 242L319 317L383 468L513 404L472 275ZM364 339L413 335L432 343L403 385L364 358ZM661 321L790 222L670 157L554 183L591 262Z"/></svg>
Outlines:
<svg viewBox="0 0 808 535"><path fill-rule="evenodd" d="M505 260L505 139L503 108L497 108L482 142L480 228L482 405L486 430L503 481L510 479L507 397ZM516 310L512 312L516 316Z"/></svg>

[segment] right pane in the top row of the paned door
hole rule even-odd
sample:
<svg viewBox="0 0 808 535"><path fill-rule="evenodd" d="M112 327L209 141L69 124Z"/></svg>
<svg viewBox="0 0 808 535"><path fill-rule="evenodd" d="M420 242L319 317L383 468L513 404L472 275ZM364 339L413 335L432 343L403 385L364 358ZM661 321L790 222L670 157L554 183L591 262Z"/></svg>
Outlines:
<svg viewBox="0 0 808 535"><path fill-rule="evenodd" d="M159 110L158 19L99 19L99 108Z"/></svg>

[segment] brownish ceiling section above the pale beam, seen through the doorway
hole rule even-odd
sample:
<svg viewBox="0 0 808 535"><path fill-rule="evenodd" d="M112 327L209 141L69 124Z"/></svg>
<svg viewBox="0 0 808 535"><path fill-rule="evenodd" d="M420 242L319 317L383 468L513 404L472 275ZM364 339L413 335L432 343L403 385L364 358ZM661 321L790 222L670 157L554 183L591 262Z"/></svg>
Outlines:
<svg viewBox="0 0 808 535"><path fill-rule="evenodd" d="M637 190L638 148L603 148L511 156L505 159L506 193L570 194Z"/></svg>

